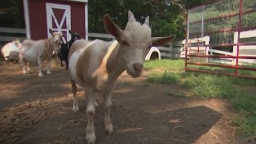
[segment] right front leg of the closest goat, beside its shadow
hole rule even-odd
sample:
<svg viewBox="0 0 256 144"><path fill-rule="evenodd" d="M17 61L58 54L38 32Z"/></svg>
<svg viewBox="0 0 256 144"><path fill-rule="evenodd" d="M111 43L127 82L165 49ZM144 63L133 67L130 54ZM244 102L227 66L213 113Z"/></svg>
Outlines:
<svg viewBox="0 0 256 144"><path fill-rule="evenodd" d="M111 134L113 133L113 125L111 123L111 118L110 118L110 111L112 107L111 90L108 90L107 92L104 93L104 106L105 106L105 113L104 113L105 131L108 134Z"/></svg>

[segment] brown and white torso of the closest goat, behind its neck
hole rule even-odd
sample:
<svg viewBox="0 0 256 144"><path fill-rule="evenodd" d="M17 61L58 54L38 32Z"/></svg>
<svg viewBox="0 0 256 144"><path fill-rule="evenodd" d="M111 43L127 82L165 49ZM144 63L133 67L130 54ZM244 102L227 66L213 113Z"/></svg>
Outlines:
<svg viewBox="0 0 256 144"><path fill-rule="evenodd" d="M72 76L76 75L76 77L73 77L73 80L83 79L84 82L90 83L93 72L102 64L102 60L107 54L110 45L111 42L104 42L102 40L93 40L92 42L76 40L68 54L70 74ZM84 84L80 85L83 86Z"/></svg>

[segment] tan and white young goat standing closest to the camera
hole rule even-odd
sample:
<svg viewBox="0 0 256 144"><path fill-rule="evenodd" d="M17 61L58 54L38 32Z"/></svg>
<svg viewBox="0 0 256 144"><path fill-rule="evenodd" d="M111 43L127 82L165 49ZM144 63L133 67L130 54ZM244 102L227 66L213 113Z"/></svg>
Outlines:
<svg viewBox="0 0 256 144"><path fill-rule="evenodd" d="M94 40L77 40L68 54L70 83L73 93L73 110L79 111L76 92L76 83L84 87L86 97L86 140L88 144L96 140L93 118L95 115L95 92L102 92L104 96L104 127L108 134L113 132L110 119L111 91L116 79L124 70L132 77L139 77L143 73L143 62L150 47L168 44L175 35L151 38L149 17L141 25L136 22L134 15L129 11L129 22L121 30L104 15L104 27L109 34L115 36L114 42Z"/></svg>

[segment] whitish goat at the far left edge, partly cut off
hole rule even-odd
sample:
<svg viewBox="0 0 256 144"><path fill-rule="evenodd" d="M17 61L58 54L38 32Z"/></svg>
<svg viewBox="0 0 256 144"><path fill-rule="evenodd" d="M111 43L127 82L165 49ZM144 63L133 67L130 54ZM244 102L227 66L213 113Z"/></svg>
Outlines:
<svg viewBox="0 0 256 144"><path fill-rule="evenodd" d="M6 60L7 65L9 65L10 61L13 61L13 63L19 62L19 44L20 41L15 40L13 42L8 42L2 47L1 53L4 60Z"/></svg>

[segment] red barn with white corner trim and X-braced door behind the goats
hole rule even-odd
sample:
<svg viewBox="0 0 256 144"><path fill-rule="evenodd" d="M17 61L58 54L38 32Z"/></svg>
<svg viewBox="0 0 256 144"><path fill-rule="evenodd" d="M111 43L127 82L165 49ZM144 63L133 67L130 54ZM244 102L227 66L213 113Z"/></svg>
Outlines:
<svg viewBox="0 0 256 144"><path fill-rule="evenodd" d="M67 33L64 42L70 40L68 30L82 33L88 39L88 0L23 0L27 38L49 38L49 28Z"/></svg>

